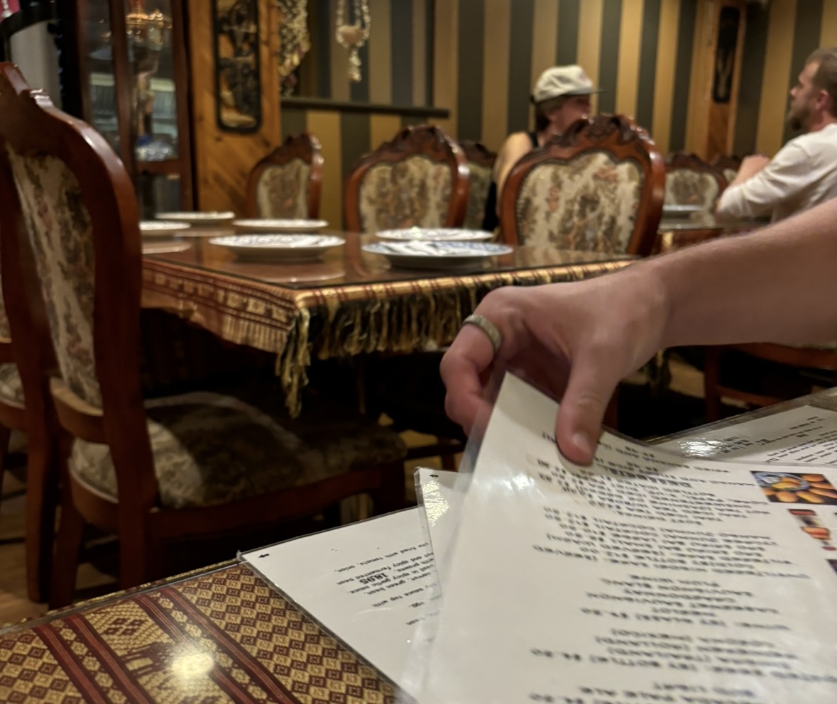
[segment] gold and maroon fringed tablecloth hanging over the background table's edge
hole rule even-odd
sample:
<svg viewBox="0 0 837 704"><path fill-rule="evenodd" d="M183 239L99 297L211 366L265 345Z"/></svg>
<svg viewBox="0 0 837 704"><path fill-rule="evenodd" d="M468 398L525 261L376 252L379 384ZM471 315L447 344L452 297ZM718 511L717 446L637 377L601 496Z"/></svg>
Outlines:
<svg viewBox="0 0 837 704"><path fill-rule="evenodd" d="M587 279L630 261L603 257L512 271L291 288L146 257L142 301L145 307L174 311L227 342L275 352L288 408L297 413L312 354L326 359L449 344L490 290Z"/></svg>

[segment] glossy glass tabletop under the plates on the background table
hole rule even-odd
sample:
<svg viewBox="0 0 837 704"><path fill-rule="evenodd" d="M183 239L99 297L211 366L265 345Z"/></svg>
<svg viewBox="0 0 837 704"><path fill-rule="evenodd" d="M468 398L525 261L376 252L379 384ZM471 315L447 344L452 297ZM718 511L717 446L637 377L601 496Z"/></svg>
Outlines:
<svg viewBox="0 0 837 704"><path fill-rule="evenodd" d="M381 254L370 254L362 245L379 241L374 235L324 232L346 239L341 247L329 249L321 260L284 264L239 260L229 249L210 244L213 237L234 234L231 229L195 229L182 239L146 239L145 257L149 261L194 267L228 276L280 285L290 289L311 289L332 285L377 284L394 281L427 280L445 276L479 275L534 270L571 265L595 265L632 260L629 254L603 254L555 249L544 246L519 246L511 254L488 257L455 267L407 269L390 265ZM171 244L171 247L167 247ZM167 251L171 249L172 251Z"/></svg>

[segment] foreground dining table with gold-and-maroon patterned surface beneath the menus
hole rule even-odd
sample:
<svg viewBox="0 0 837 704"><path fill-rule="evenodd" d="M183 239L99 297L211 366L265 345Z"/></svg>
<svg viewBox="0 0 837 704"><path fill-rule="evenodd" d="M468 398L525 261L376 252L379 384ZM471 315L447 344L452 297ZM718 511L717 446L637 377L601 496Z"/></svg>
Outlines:
<svg viewBox="0 0 837 704"><path fill-rule="evenodd" d="M652 442L687 447L711 430L802 406L837 410L837 388ZM701 456L716 448L701 443ZM0 628L0 701L394 704L396 689L246 563L230 560Z"/></svg>

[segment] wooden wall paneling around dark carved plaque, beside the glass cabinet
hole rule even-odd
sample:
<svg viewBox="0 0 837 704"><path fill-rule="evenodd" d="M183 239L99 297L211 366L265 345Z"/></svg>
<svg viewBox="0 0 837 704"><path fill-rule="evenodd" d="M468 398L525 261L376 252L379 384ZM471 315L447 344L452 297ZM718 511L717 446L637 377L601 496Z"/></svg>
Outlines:
<svg viewBox="0 0 837 704"><path fill-rule="evenodd" d="M217 2L224 7L227 0ZM278 13L270 0L258 0L258 3L261 124L257 131L242 134L225 131L218 126L213 13L206 0L188 0L196 171L194 187L198 208L202 210L232 210L244 215L250 169L279 146Z"/></svg>

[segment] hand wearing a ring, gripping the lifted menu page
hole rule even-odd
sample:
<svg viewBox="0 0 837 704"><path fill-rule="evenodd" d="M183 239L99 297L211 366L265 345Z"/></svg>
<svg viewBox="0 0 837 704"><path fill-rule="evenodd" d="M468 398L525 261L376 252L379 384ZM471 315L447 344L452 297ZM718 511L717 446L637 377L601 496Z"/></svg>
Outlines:
<svg viewBox="0 0 837 704"><path fill-rule="evenodd" d="M470 434L477 417L490 411L485 387L502 362L562 399L558 445L569 460L588 465L616 385L660 347L665 295L657 277L642 269L631 265L598 279L508 287L485 296L475 312L497 326L503 341L495 354L483 331L462 328L440 367L450 418Z"/></svg>

